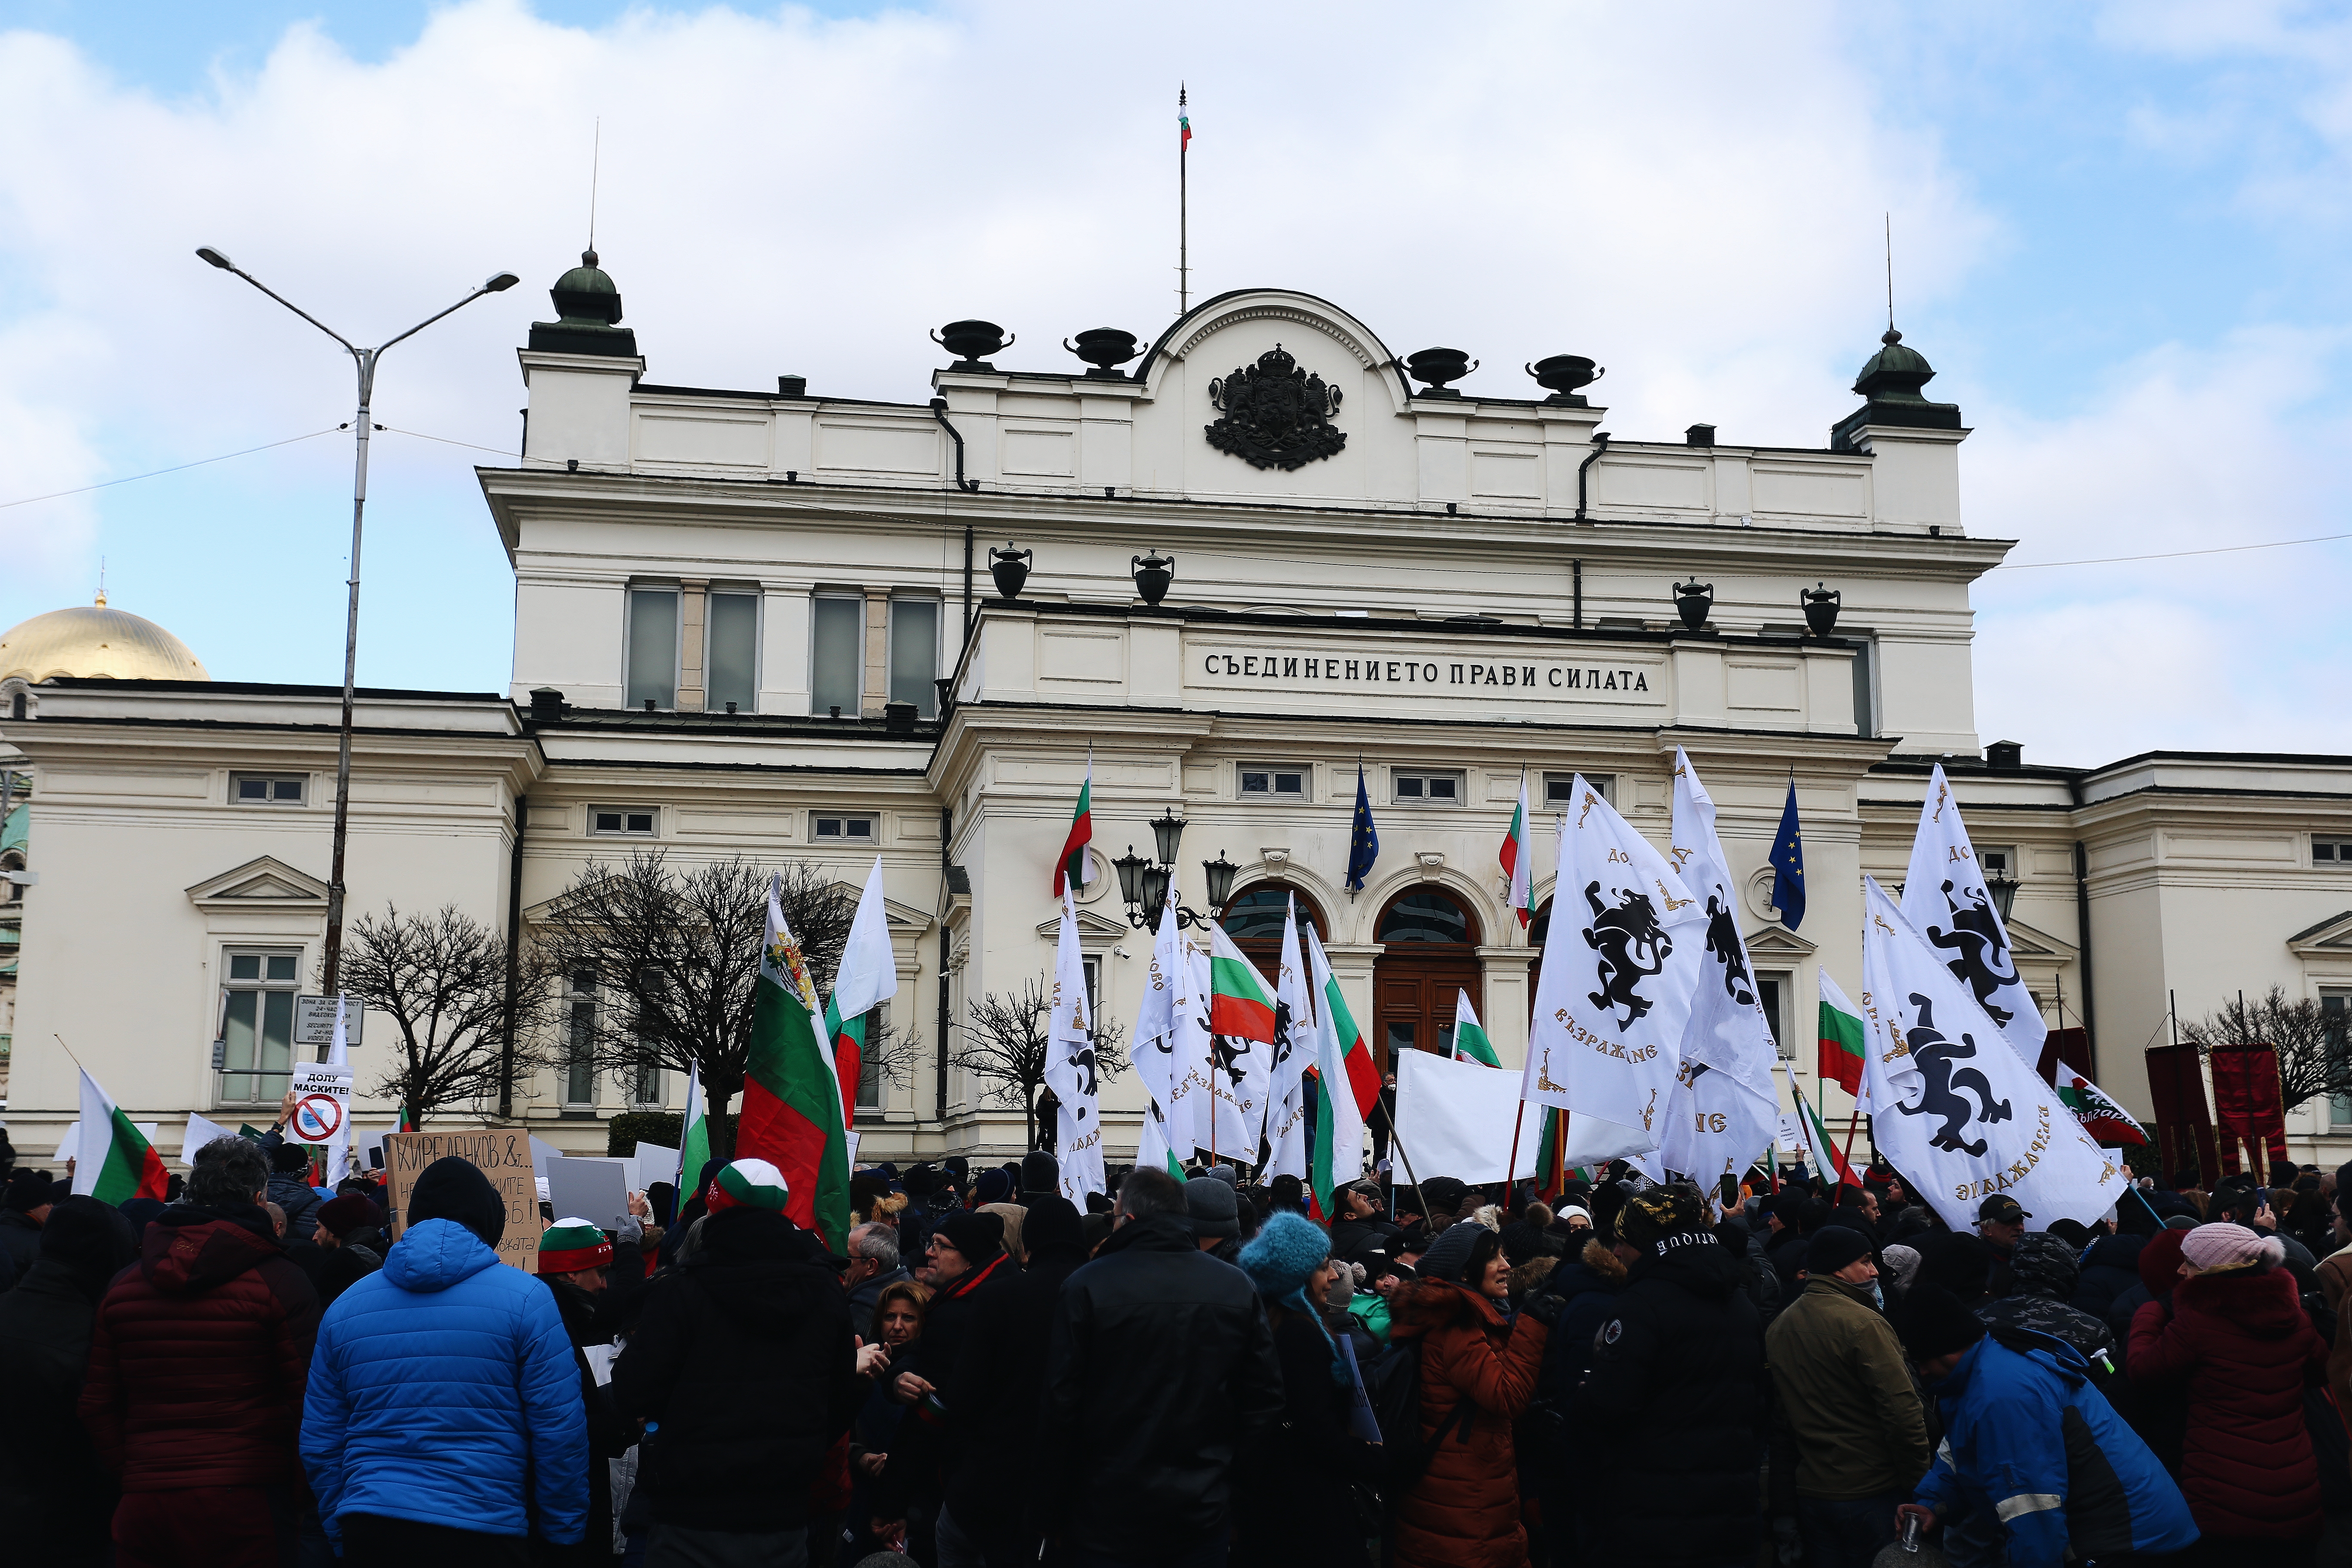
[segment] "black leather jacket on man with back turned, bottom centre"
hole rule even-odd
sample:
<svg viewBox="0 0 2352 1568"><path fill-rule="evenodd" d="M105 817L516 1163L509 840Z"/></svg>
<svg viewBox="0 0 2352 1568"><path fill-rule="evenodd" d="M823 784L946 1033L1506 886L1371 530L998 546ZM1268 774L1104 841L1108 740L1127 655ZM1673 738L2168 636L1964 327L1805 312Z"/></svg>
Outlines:
<svg viewBox="0 0 2352 1568"><path fill-rule="evenodd" d="M1232 1460L1282 1413L1282 1368L1249 1276L1176 1215L1129 1220L1054 1312L1049 1533L1124 1561L1223 1540Z"/></svg>

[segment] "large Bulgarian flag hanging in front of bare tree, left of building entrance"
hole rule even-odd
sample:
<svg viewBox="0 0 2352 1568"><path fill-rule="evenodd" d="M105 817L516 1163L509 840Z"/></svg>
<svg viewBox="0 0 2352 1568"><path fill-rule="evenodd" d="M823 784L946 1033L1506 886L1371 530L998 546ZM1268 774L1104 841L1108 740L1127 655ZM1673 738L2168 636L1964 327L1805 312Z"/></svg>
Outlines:
<svg viewBox="0 0 2352 1568"><path fill-rule="evenodd" d="M842 1128L842 1081L823 1037L816 987L800 943L783 924L781 882L767 889L767 940L750 1006L750 1063L736 1117L736 1159L764 1159L783 1171L793 1225L823 1234L835 1253L849 1244L849 1138Z"/></svg>

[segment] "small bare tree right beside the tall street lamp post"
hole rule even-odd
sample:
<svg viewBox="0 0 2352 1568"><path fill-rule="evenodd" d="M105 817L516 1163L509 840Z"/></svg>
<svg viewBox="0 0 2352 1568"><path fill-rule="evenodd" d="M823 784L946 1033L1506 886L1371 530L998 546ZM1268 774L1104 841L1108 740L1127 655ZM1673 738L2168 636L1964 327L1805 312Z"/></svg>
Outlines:
<svg viewBox="0 0 2352 1568"><path fill-rule="evenodd" d="M480 1112L496 1103L506 1072L506 938L442 905L433 914L362 914L343 943L343 990L400 1030L393 1065L369 1093L400 1100L421 1124L437 1110ZM536 1067L524 1046L546 1016L546 985L524 964L513 1030L517 1067Z"/></svg>

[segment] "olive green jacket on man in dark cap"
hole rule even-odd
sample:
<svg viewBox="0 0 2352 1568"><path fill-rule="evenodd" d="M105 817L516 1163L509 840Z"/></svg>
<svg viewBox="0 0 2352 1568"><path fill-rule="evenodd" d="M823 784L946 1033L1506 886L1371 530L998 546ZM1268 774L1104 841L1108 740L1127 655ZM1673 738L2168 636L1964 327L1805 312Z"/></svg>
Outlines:
<svg viewBox="0 0 2352 1568"><path fill-rule="evenodd" d="M1799 1497L1910 1495L1926 1474L1926 1410L1867 1286L1809 1279L1764 1331Z"/></svg>

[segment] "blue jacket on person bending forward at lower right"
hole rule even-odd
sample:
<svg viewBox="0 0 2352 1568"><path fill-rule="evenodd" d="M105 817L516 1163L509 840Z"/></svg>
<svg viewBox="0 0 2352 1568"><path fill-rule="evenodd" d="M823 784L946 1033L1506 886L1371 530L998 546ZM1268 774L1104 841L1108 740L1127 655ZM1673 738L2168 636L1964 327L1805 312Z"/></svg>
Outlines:
<svg viewBox="0 0 2352 1568"><path fill-rule="evenodd" d="M1945 1439L1919 1481L1919 1502L1966 1507L2009 1528L2011 1568L2180 1552L2197 1523L2147 1443L2091 1387L2082 1354L2044 1333L1990 1333L1952 1375L1929 1385Z"/></svg>

